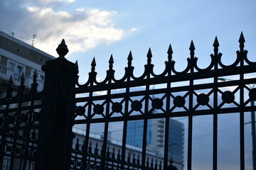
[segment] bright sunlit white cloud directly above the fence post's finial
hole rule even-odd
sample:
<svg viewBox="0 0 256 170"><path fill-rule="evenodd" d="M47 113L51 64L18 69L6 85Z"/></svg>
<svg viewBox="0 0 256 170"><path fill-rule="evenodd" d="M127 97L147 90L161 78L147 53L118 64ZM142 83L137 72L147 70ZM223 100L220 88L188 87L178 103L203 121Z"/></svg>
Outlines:
<svg viewBox="0 0 256 170"><path fill-rule="evenodd" d="M37 28L35 46L55 55L55 47L62 38L71 52L85 51L100 44L121 40L124 30L114 28L114 11L79 8L74 13L55 12L52 8L28 7Z"/></svg>

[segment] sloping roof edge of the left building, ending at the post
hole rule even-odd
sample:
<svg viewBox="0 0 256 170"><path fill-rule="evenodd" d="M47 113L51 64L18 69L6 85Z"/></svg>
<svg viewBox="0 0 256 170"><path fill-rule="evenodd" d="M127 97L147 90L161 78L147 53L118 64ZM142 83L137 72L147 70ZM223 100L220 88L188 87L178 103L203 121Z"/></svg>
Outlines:
<svg viewBox="0 0 256 170"><path fill-rule="evenodd" d="M26 47L26 48L28 48L29 50L33 50L33 51L35 51L35 52L38 52L38 53L41 54L41 55L45 55L46 57L49 57L50 59L55 59L55 58L56 58L56 57L53 57L53 55L49 55L48 53L43 52L42 50L39 50L39 49L36 48L36 47L33 47L33 46L31 46L31 45L28 45L26 42L23 42L23 41L21 41L21 40L18 40L17 38L14 38L14 37L12 37L11 35L8 35L8 34L2 32L1 30L0 30L0 36L6 38L6 39L8 39L8 40L11 40L11 41L13 41L13 42L16 42L18 45L21 45L21 46L23 46L23 47Z"/></svg>

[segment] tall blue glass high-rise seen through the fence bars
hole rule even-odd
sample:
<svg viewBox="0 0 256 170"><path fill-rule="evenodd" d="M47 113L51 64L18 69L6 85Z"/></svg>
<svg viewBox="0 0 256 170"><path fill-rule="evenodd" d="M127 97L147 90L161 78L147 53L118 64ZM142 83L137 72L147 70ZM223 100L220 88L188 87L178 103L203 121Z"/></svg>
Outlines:
<svg viewBox="0 0 256 170"><path fill-rule="evenodd" d="M144 120L132 120L127 123L127 144L142 148ZM148 120L146 150L164 157L164 119ZM183 169L183 123L170 118L169 124L169 160L172 159L178 170Z"/></svg>

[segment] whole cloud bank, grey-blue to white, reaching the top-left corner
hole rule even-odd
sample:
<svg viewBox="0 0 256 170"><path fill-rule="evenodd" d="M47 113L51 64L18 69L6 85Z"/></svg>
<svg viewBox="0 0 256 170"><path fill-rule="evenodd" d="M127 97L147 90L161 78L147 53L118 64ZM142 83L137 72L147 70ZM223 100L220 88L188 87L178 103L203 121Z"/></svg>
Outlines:
<svg viewBox="0 0 256 170"><path fill-rule="evenodd" d="M77 8L74 11L55 11L56 3L72 3L74 0L36 0L0 2L0 24L5 32L14 31L15 35L31 39L36 34L34 46L58 56L56 47L64 38L70 52L84 52L99 45L108 45L124 38L131 32L117 28L113 17L115 11L97 8ZM17 3L15 3L17 2ZM44 4L42 4L44 2ZM27 4L26 4L27 3ZM23 5L26 4L26 5ZM41 5L42 4L42 5ZM18 17L17 17L18 16ZM136 28L132 28L132 31ZM16 37L18 38L18 37Z"/></svg>

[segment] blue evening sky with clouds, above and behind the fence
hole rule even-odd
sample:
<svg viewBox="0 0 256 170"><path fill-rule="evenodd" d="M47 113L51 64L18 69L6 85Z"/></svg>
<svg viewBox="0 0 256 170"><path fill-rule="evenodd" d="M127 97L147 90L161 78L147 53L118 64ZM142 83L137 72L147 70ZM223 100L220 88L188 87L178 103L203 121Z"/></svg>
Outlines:
<svg viewBox="0 0 256 170"><path fill-rule="evenodd" d="M215 36L220 43L219 52L223 53L223 63L232 64L235 61L235 51L239 50L241 31L246 40L245 49L249 51L248 58L256 61L255 8L254 0L0 0L0 30L10 35L13 33L15 38L30 45L36 34L34 47L55 57L58 57L55 49L64 38L70 51L68 60L78 60L79 81L82 84L87 81L93 57L97 63L97 79L105 78L110 55L114 57L115 77L121 78L130 50L135 75L139 76L144 71L149 47L153 55L152 63L155 65L154 72L161 73L170 44L174 50L176 69L182 71L186 67L186 58L189 57L191 40L196 47L199 67L207 67L210 54L213 53ZM208 119L198 119L199 125L207 126L206 120ZM222 128L237 125L234 122L227 124L223 123ZM235 128L230 130L234 134L237 132ZM211 129L206 129L206 132L202 132L202 128L198 126L193 134L200 136L210 131ZM224 134L225 139L225 132L221 134ZM196 148L193 150L197 151L194 152L196 156L193 159L193 169L211 167L212 158L206 160L203 156L209 152L201 153L203 149L197 149L202 143L210 141L207 137L210 135L199 138L199 142L193 144ZM232 137L232 140L237 140L235 135ZM250 135L247 138L250 145ZM221 164L223 169L238 169L235 168L239 162L238 157L227 154L236 148L236 144L230 144L229 139L223 140L223 146L231 147L229 150L222 149L223 152L228 150L223 159L220 159L220 163L221 160L227 160ZM250 161L248 162L250 165Z"/></svg>

